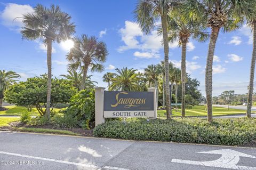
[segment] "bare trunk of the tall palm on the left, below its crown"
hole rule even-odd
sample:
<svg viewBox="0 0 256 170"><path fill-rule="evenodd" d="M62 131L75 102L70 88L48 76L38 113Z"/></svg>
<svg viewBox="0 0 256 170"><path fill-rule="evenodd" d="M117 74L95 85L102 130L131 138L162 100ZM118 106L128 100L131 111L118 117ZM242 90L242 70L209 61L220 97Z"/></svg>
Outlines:
<svg viewBox="0 0 256 170"><path fill-rule="evenodd" d="M52 90L52 39L47 39L47 98L46 98L46 117L50 120L51 90Z"/></svg>

